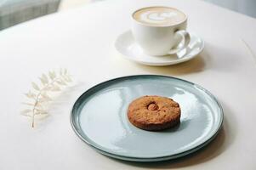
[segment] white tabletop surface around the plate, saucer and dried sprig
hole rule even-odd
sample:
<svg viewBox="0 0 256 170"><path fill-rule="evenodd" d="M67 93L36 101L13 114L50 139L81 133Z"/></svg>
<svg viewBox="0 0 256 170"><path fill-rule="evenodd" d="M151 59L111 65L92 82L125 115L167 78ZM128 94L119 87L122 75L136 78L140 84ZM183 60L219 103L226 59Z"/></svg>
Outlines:
<svg viewBox="0 0 256 170"><path fill-rule="evenodd" d="M128 30L129 14L148 5L185 11L189 30L206 42L202 54L167 67L122 59L113 42ZM105 1L1 31L0 169L256 169L255 37L255 19L197 0ZM55 98L50 116L32 129L20 116L23 93L43 72L60 67L71 71L76 82ZM134 74L179 77L207 88L225 111L218 137L192 156L146 164L117 161L82 143L69 122L75 99L97 82Z"/></svg>

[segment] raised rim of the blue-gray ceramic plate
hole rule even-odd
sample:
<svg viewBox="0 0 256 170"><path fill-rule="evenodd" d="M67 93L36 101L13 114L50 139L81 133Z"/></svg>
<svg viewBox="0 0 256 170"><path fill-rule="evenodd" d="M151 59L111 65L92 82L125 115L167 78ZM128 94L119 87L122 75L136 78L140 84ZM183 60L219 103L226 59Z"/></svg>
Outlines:
<svg viewBox="0 0 256 170"><path fill-rule="evenodd" d="M77 131L77 128L76 128L76 123L75 123L75 119L73 118L73 110L75 108L75 105L77 105L77 102L80 101L82 99L82 97L87 94L89 91L93 90L94 88L98 88L99 86L105 84L105 83L108 83L108 82L115 82L115 81L118 81L118 80L122 80L122 79L128 79L128 78L136 78L136 77L163 77L163 78L170 78L170 79L175 79L175 80L178 80L178 81L181 81L181 82L186 82L186 83L189 83L193 86L196 86L196 88L200 88L204 93L208 94L212 99L213 101L216 102L216 104L218 105L219 107L219 125L218 127L216 128L216 132L213 133L212 136L210 136L207 140L205 140L202 144L199 144L197 145L196 147L193 147L191 148L190 150L185 150L185 151L182 151L182 152L179 152L177 154L173 154L173 155L169 155L169 156L151 156L151 157L143 157L143 156L139 156L139 157L136 157L136 156L123 156L122 154L115 154L115 153L111 153L110 151L107 151L107 150L102 150L100 149L99 147L97 147L97 145L95 144L92 144L88 141L88 139L85 139L82 137L82 135ZM100 82L100 83L97 83L96 85L88 88L85 92L83 92L77 99L76 101L74 102L74 104L71 106L71 111L70 111L70 122L71 122L71 127L73 129L73 131L77 134L77 137L79 139L81 139L84 143L88 144L90 147L92 147L94 150L97 150L98 152L100 152L101 154L105 155L105 156L111 156L111 157L114 157L114 158L117 158L117 159L122 159L122 160L126 160L126 161L162 161L162 160L169 160L169 159L174 159L174 158L178 158L180 156L185 156L185 155L188 155L188 154L191 154L193 152L195 152L196 150L200 150L203 146L207 145L208 143L210 143L213 139L215 139L215 137L217 136L217 134L219 133L219 130L221 129L222 125L223 125L223 122L224 122L224 111L223 111L223 108L222 106L220 105L218 99L216 99L216 97L210 93L206 88L203 88L202 86L194 83L194 82L189 82L187 80L184 80L184 79L181 79L181 78L178 78L178 77L170 77L170 76L163 76L163 75L154 75L154 74L141 74L141 75L130 75L130 76L124 76L124 77L116 77L116 78L112 78L112 79L109 79L109 80L106 80L106 81L103 81L103 82Z"/></svg>

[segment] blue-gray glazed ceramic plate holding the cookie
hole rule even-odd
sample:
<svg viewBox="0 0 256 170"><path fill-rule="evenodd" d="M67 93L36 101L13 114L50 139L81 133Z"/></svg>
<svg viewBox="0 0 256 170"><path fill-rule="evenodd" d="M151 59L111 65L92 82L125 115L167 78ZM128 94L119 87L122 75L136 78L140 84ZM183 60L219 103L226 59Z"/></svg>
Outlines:
<svg viewBox="0 0 256 170"><path fill-rule="evenodd" d="M134 127L127 117L131 101L160 95L177 101L180 124L161 132ZM100 153L128 161L163 161L185 156L219 132L223 111L206 89L174 77L119 77L88 89L71 110L78 137Z"/></svg>

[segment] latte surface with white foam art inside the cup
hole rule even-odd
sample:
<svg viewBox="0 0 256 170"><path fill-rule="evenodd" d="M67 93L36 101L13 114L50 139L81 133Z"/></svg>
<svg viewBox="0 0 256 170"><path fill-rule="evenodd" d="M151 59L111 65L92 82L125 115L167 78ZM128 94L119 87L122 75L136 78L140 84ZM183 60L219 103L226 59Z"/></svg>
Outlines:
<svg viewBox="0 0 256 170"><path fill-rule="evenodd" d="M184 13L169 7L141 8L134 12L133 17L148 26L173 26L186 20Z"/></svg>

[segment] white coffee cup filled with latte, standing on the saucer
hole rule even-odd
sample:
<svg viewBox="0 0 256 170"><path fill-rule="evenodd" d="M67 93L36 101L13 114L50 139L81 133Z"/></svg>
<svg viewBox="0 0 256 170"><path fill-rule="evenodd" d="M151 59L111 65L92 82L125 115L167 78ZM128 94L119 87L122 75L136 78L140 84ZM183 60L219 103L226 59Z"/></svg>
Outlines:
<svg viewBox="0 0 256 170"><path fill-rule="evenodd" d="M191 41L187 15L171 7L139 8L132 14L132 32L145 54L176 54Z"/></svg>

